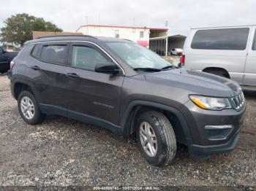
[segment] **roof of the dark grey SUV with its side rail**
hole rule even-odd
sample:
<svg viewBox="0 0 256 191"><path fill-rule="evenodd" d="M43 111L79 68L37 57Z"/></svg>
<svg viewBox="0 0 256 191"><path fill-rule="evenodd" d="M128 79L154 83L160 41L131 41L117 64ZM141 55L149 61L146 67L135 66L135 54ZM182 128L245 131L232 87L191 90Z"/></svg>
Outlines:
<svg viewBox="0 0 256 191"><path fill-rule="evenodd" d="M42 36L37 39L27 41L26 44L37 42L49 42L49 41L90 41L90 42L127 42L126 39L116 39L103 36L89 36L89 35L54 35L54 36Z"/></svg>

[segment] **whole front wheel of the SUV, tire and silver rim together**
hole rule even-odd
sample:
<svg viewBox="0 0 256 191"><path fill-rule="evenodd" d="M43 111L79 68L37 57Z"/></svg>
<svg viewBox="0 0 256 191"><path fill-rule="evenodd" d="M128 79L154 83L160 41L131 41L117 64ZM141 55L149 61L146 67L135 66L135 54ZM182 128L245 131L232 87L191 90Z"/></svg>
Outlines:
<svg viewBox="0 0 256 191"><path fill-rule="evenodd" d="M170 121L160 112L138 117L137 139L143 157L151 165L170 164L176 155L176 136Z"/></svg>

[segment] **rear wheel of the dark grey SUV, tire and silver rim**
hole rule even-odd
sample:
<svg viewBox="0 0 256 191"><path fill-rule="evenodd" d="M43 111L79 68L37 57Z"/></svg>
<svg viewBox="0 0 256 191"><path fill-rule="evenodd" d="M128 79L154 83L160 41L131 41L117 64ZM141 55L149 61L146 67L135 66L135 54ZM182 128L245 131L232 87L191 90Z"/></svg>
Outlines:
<svg viewBox="0 0 256 191"><path fill-rule="evenodd" d="M34 95L29 91L23 91L18 96L18 111L23 120L31 125L37 125L45 120L45 114L39 110Z"/></svg>

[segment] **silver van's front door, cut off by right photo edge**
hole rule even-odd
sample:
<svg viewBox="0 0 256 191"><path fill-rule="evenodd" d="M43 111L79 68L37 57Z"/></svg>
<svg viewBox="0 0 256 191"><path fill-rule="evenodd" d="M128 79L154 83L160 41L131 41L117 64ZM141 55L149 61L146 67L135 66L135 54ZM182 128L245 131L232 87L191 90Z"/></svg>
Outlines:
<svg viewBox="0 0 256 191"><path fill-rule="evenodd" d="M252 28L244 70L244 85L256 85L256 26Z"/></svg>

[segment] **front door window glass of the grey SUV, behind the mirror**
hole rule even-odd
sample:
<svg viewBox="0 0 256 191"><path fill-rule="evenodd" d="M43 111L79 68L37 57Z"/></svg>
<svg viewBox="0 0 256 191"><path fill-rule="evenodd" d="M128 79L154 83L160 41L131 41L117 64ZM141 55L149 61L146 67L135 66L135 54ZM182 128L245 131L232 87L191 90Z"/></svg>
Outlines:
<svg viewBox="0 0 256 191"><path fill-rule="evenodd" d="M100 52L92 47L73 46L72 66L80 69L94 71L97 63L108 63Z"/></svg>

